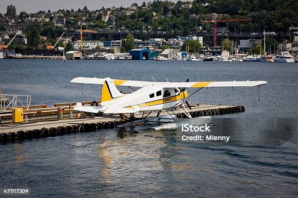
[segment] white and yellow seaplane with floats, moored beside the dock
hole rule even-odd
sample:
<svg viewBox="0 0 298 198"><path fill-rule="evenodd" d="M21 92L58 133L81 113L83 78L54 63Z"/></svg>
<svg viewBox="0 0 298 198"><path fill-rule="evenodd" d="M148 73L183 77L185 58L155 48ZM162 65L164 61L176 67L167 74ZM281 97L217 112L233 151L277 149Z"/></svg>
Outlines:
<svg viewBox="0 0 298 198"><path fill-rule="evenodd" d="M186 109L191 109L186 99L205 87L254 87L267 84L265 81L189 82L187 79L186 82L155 82L153 79L153 82L147 82L85 77L74 78L71 82L103 85L101 106L82 106L78 102L75 110L104 115L148 113L146 116L142 115L145 123L163 123L155 127L155 130L178 128L186 123L200 125L210 122L210 116L192 118ZM116 86L127 86L131 93L123 94ZM132 87L140 88L135 90ZM188 95L186 88L197 90ZM180 110L187 118L178 119L175 110ZM162 111L168 114L161 115ZM149 118L152 112L157 112L157 116Z"/></svg>

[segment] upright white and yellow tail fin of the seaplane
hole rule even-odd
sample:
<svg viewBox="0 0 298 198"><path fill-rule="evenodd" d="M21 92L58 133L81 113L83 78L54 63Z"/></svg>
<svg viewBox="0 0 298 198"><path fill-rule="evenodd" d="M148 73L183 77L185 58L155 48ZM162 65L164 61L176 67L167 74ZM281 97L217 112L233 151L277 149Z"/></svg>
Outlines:
<svg viewBox="0 0 298 198"><path fill-rule="evenodd" d="M104 84L101 91L101 106L111 105L113 99L117 99L124 94L121 94L116 85L112 82L112 79L104 79Z"/></svg>

